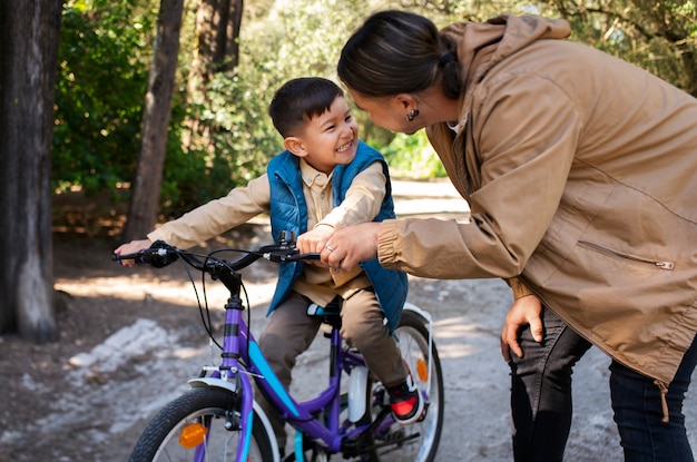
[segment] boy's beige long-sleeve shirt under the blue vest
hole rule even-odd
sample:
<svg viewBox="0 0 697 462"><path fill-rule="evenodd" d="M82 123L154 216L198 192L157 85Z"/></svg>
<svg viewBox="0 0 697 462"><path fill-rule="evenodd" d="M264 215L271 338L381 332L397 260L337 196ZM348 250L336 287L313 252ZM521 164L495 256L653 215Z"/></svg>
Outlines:
<svg viewBox="0 0 697 462"><path fill-rule="evenodd" d="M372 220L386 195L386 178L380 163L371 164L353 179L342 204L332 205L332 175L313 168L301 159L303 193L307 204L307 229L323 224L340 229ZM210 200L181 217L168 222L148 234L153 242L165 240L188 248L239 226L271 208L271 191L266 174L237 187L225 197ZM294 291L313 302L325 305L336 295L344 298L355 291L370 287L360 267L350 273L331 273L328 268L307 264Z"/></svg>

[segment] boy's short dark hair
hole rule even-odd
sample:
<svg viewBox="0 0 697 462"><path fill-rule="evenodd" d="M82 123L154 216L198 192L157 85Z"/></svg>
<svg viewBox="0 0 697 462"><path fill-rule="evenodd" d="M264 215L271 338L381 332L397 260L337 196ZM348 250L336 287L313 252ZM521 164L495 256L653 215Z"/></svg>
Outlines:
<svg viewBox="0 0 697 462"><path fill-rule="evenodd" d="M330 110L344 91L333 81L321 77L288 80L274 95L268 106L274 127L282 137L296 136L313 117Z"/></svg>

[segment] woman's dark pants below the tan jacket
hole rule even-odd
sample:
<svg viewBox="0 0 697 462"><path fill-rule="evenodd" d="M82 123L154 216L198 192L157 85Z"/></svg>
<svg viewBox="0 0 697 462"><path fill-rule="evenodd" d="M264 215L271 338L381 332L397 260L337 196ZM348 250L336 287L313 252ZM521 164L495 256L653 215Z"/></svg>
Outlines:
<svg viewBox="0 0 697 462"><path fill-rule="evenodd" d="M523 357L511 355L511 409L516 462L562 461L571 426L571 373L591 344L550 309L542 314L544 341L521 333ZM612 410L627 462L693 462L681 413L697 363L697 342L683 358L668 390L670 422L662 423L654 380L617 362L610 365Z"/></svg>

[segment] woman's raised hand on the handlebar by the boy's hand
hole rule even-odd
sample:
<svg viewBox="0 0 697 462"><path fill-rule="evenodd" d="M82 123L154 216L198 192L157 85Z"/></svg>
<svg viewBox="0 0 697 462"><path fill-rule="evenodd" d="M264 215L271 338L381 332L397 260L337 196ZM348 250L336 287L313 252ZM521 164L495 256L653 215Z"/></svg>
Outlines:
<svg viewBox="0 0 697 462"><path fill-rule="evenodd" d="M336 230L324 246L321 257L336 272L351 271L359 263L377 256L380 223L362 223Z"/></svg>

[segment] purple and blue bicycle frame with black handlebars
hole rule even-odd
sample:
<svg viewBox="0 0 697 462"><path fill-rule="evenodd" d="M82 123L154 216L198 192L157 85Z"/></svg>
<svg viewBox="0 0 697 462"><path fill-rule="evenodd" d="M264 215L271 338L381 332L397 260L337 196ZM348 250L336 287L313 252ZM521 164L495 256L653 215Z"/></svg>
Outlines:
<svg viewBox="0 0 697 462"><path fill-rule="evenodd" d="M379 391L376 391L373 400L369 400L367 396L370 396L370 394L363 393L363 390L366 390L363 389L363 386L370 384L365 375L367 371L365 361L357 351L343 344L340 333L338 309L332 311L331 308L323 308L318 309L318 313L315 314L324 316L323 321L332 327L330 335L331 364L327 386L313 399L303 402L298 402L289 395L288 391L285 390L273 372L243 316L244 311L248 307L245 307L240 297L243 283L242 275L237 273L237 271L262 257L274 262L284 262L291 258L313 258L316 257L316 255L298 255L294 247L281 245L265 246L259 248L259 250L249 252L235 262L215 258L209 259L208 257L202 262L192 254L168 247L164 243L155 243L150 249L148 249L147 254L144 254L141 250L141 253L138 254L114 257L114 259L134 258L138 263L150 263L156 267L165 266L175 262L177 258L181 258L185 263L195 268L208 273L213 279L219 281L229 291L229 297L225 304L225 327L223 345L220 346L222 361L217 366L205 366L202 375L190 380L188 383L192 387L220 389L229 393L229 405L225 406L226 411L218 415L226 419L224 424L227 430L238 431L238 441L235 449L236 460L246 461L248 459L252 441L255 439L252 427L255 419L258 419L257 424L261 422L265 434L269 436L268 444L271 445L269 450L273 454L273 460L278 461L279 459L278 445L274 438L269 419L254 400L255 390L252 382L253 380L256 384L256 391L261 392L268 400L284 421L295 427L296 439L294 453L297 462L304 461L304 452L308 449L305 446L305 442L311 442L311 448L314 446L314 450L320 451L320 453L342 453L344 456L361 455L363 458L365 454L371 454L376 449L384 445L401 445L402 442L420 438L420 433L416 432L397 436L396 440L393 438L383 441L374 440L375 434L384 435L385 432L389 432L395 421L390 406L386 405L386 402L382 401L384 399L383 390L376 389ZM428 323L428 351L431 352L433 346L431 316L428 312L410 303L405 304L404 309L414 312L419 318ZM213 335L210 332L208 333ZM422 338L423 336L425 335L422 334ZM438 376L440 377L440 364L438 363L438 358L435 361ZM425 392L424 400L428 405L432 377L432 355L428 354L428 363L423 361L418 363L415 371L425 385L425 390L422 389L421 392ZM341 390L343 372L351 375L353 386L350 389L353 392L351 392L348 394L347 419L342 419L341 415L342 412L345 411ZM441 382L438 383L440 384ZM363 394L363 396L356 399L356 394ZM442 387L439 385L438 396L441 394ZM438 402L442 403L441 401ZM357 406L353 404L357 404ZM442 404L440 405L442 406ZM220 407L220 410L223 411L225 407ZM375 409L380 409L380 412L373 417L371 416L371 410ZM439 410L436 415L441 415L442 407L439 407ZM206 429L209 423L208 419L212 417L206 417L204 422L202 422ZM436 430L434 433L435 440L433 441L438 444L442 420L434 422ZM156 429L159 429L159 426L156 426ZM199 432L195 426L192 426L192 430L193 431L188 432L186 435L184 433L181 434L181 438L185 438L186 441L186 443L181 444L186 444L186 448L194 450L195 461L203 462L207 460L209 443L207 439L212 438L212 434L204 429L202 429L204 430L203 432ZM383 430L385 432L383 432ZM431 451L428 454L432 456L434 453Z"/></svg>

